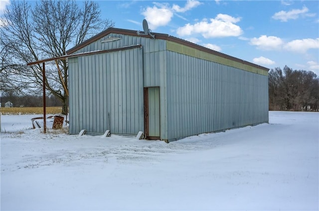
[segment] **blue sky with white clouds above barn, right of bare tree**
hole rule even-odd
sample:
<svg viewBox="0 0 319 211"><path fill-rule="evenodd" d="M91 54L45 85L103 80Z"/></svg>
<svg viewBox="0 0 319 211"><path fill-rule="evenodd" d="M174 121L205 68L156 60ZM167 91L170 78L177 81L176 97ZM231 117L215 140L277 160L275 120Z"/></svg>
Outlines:
<svg viewBox="0 0 319 211"><path fill-rule="evenodd" d="M0 0L0 9L8 0ZM81 3L81 1L78 1ZM100 0L116 28L165 33L270 69L319 75L317 0Z"/></svg>

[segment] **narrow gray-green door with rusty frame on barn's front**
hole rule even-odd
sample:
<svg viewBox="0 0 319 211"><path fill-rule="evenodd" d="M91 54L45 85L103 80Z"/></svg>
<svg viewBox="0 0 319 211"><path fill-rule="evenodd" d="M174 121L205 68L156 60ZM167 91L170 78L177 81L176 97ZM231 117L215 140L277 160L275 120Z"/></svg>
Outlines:
<svg viewBox="0 0 319 211"><path fill-rule="evenodd" d="M160 87L145 87L144 103L146 139L160 140Z"/></svg>

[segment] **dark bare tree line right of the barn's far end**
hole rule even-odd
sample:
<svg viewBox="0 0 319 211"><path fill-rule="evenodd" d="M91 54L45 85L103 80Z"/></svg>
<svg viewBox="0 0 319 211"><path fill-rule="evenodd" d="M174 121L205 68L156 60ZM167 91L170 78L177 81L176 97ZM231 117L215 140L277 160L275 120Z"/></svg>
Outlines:
<svg viewBox="0 0 319 211"><path fill-rule="evenodd" d="M271 69L268 85L269 110L319 110L319 77L312 71Z"/></svg>

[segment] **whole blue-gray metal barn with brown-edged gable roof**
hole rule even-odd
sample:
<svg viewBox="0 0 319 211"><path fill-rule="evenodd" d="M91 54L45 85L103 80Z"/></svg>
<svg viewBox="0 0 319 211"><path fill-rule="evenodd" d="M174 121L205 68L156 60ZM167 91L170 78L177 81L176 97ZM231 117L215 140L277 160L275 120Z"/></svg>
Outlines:
<svg viewBox="0 0 319 211"><path fill-rule="evenodd" d="M268 122L269 69L153 34L109 28L67 51L70 134L168 142Z"/></svg>

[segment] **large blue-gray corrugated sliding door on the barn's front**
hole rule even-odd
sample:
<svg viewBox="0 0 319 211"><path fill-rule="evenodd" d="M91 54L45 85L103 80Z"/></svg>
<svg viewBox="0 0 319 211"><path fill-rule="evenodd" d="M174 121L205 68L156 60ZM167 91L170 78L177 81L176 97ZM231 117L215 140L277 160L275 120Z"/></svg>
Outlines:
<svg viewBox="0 0 319 211"><path fill-rule="evenodd" d="M70 134L144 130L143 50L78 57L70 63ZM77 61L76 61L77 60Z"/></svg>

